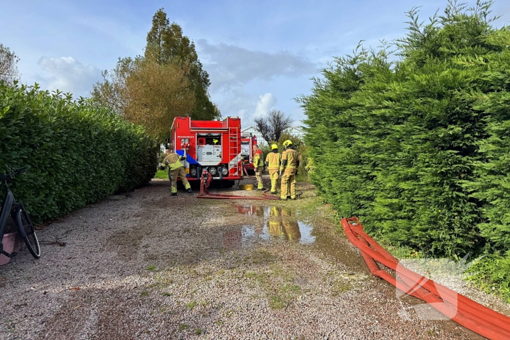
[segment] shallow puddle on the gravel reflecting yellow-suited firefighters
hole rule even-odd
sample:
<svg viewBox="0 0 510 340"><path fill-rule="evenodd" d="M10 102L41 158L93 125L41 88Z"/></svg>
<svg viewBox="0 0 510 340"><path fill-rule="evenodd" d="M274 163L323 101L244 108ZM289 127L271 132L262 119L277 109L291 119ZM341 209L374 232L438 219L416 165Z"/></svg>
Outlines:
<svg viewBox="0 0 510 340"><path fill-rule="evenodd" d="M225 234L224 241L229 245L249 245L257 240L287 240L309 244L315 241L312 236L312 227L298 221L296 211L292 208L279 206L238 206L238 212L253 216L253 223L240 227L240 230ZM262 219L261 219L262 217ZM240 233L239 233L240 231ZM233 238L238 240L233 240Z"/></svg>

